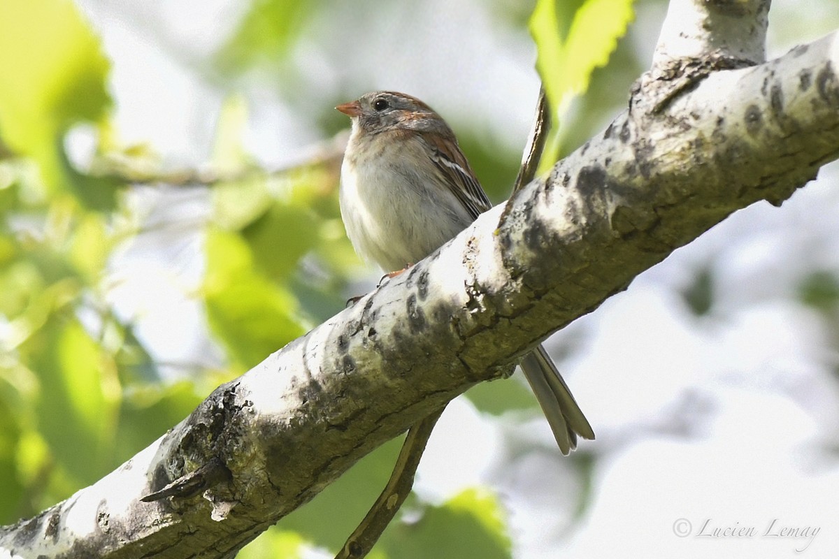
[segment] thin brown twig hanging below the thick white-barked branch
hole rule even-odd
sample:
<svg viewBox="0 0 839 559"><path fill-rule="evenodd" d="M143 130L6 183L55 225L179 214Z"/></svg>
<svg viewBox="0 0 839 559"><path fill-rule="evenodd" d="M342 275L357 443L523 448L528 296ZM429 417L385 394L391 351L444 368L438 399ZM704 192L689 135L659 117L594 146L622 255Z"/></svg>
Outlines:
<svg viewBox="0 0 839 559"><path fill-rule="evenodd" d="M399 451L399 458L396 459L388 484L385 485L382 494L373 503L361 524L347 538L347 542L344 543L335 559L361 559L373 549L378 538L382 536L384 529L388 527L393 516L411 492L414 474L417 466L420 465L425 444L428 443L435 423L440 419L440 414L444 409L446 409L445 406L441 407L410 428L408 436L402 443L402 450Z"/></svg>

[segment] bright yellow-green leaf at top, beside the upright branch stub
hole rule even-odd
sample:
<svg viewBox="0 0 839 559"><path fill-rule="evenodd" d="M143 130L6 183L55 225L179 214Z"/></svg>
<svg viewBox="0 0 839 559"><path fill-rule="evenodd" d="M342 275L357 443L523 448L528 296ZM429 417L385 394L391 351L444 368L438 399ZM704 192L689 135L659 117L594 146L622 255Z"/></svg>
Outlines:
<svg viewBox="0 0 839 559"><path fill-rule="evenodd" d="M576 9L564 34L556 2L538 0L530 18L530 33L539 53L536 69L545 85L554 123L541 171L559 157L559 125L571 101L585 93L591 72L606 65L633 18L633 0L586 0Z"/></svg>

